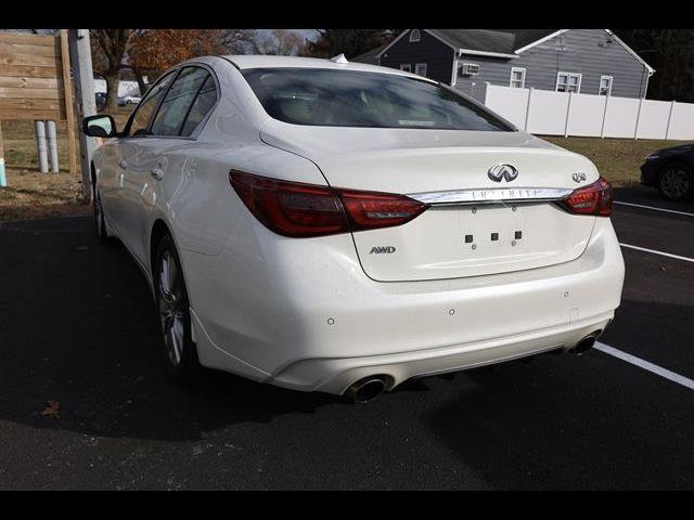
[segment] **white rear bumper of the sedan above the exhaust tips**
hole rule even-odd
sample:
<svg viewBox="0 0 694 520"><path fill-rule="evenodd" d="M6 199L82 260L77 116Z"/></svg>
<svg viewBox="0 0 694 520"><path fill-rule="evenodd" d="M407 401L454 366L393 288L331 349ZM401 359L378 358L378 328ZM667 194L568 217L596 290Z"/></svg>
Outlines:
<svg viewBox="0 0 694 520"><path fill-rule="evenodd" d="M343 393L376 374L395 386L571 348L607 325L625 274L608 219L596 219L574 261L458 280L374 282L346 253L349 235L322 238L318 249L270 244L255 262L234 244L216 257L183 253L187 280L196 278L189 292L198 355L206 366L305 391ZM221 274L230 270L236 274Z"/></svg>

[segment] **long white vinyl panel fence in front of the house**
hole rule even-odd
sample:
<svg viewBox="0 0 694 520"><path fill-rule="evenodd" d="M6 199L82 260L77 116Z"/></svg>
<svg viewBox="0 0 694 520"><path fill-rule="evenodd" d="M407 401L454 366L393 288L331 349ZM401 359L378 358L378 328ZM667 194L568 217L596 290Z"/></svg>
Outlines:
<svg viewBox="0 0 694 520"><path fill-rule="evenodd" d="M694 140L694 104L488 84L485 105L541 135Z"/></svg>

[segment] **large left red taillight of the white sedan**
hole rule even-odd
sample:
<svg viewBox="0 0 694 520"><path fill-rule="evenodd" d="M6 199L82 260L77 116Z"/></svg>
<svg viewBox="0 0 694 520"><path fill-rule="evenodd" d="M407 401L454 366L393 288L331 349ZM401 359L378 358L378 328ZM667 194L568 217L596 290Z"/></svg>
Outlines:
<svg viewBox="0 0 694 520"><path fill-rule="evenodd" d="M279 181L232 170L229 180L250 212L271 231L308 237L400 225L427 206L403 195Z"/></svg>

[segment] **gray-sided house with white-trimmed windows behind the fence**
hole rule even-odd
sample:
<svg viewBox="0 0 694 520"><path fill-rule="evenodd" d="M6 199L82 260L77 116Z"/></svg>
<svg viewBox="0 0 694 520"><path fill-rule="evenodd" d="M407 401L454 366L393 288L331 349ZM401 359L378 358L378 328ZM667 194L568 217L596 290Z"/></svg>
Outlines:
<svg viewBox="0 0 694 520"><path fill-rule="evenodd" d="M654 69L609 29L407 29L352 58L477 96L487 83L645 98Z"/></svg>

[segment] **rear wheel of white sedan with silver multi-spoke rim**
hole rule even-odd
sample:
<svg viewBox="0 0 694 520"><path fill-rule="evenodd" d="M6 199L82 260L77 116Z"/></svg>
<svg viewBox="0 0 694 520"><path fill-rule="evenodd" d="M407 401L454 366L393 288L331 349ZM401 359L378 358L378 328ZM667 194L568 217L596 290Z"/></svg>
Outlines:
<svg viewBox="0 0 694 520"><path fill-rule="evenodd" d="M168 270L164 262L167 262ZM202 366L191 335L190 302L181 261L168 234L156 246L152 276L162 327L160 351L166 369L176 382L195 384L200 380Z"/></svg>

